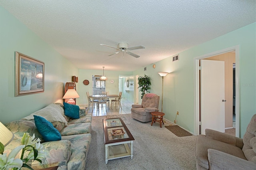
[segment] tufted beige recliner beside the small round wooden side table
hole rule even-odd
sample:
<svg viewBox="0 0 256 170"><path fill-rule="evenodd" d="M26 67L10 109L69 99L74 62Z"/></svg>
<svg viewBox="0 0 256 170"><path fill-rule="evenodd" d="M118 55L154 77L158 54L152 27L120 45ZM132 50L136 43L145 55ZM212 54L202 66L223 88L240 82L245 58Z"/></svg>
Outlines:
<svg viewBox="0 0 256 170"><path fill-rule="evenodd" d="M140 122L152 121L151 112L158 112L159 96L153 93L145 94L141 105L132 105L132 118Z"/></svg>

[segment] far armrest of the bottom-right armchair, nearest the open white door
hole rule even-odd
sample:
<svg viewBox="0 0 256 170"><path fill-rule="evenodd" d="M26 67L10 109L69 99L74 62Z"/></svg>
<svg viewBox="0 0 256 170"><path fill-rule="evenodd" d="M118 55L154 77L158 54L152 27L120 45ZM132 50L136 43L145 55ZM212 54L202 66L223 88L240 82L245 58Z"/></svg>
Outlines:
<svg viewBox="0 0 256 170"><path fill-rule="evenodd" d="M222 132L218 132L216 130L212 129L205 129L205 136L214 140L218 140L221 142L225 142L228 144L232 144L234 146L237 146L239 148L243 148L244 143L242 138L238 138L236 136L232 136L230 134L225 134Z"/></svg>

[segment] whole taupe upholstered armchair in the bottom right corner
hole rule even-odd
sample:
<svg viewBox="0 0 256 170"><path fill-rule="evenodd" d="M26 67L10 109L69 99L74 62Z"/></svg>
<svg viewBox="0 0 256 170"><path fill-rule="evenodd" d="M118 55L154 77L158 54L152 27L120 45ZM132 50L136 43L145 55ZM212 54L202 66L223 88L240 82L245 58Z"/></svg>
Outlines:
<svg viewBox="0 0 256 170"><path fill-rule="evenodd" d="M256 114L252 117L244 138L211 129L196 139L196 168L198 170L255 170Z"/></svg>

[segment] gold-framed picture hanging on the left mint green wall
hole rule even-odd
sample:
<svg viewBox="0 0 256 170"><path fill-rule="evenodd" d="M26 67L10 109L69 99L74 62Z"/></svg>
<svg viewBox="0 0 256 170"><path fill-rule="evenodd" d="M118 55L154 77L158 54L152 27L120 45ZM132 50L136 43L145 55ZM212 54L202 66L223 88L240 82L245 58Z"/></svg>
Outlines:
<svg viewBox="0 0 256 170"><path fill-rule="evenodd" d="M15 97L44 92L44 62L16 51Z"/></svg>

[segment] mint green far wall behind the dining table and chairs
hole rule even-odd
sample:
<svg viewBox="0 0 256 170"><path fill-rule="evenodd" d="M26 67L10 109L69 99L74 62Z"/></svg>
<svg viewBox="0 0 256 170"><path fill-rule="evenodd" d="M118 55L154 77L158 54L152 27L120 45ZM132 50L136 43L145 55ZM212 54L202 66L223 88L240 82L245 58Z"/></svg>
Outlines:
<svg viewBox="0 0 256 170"><path fill-rule="evenodd" d="M78 76L78 83L76 83L79 86L78 95L80 98L76 99L76 105L79 104L88 104L88 100L86 97L86 91L89 91L89 94L92 95L92 75L102 75L103 69L101 70L87 70L87 69L79 69ZM109 92L109 94L119 94L119 75L132 75L131 71L108 71L105 67L104 74L108 78L106 80L106 91ZM110 80L113 79L115 82L113 84L110 83ZM84 85L83 81L88 80L89 85Z"/></svg>

